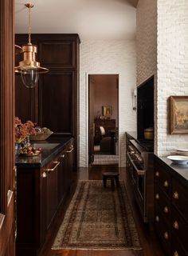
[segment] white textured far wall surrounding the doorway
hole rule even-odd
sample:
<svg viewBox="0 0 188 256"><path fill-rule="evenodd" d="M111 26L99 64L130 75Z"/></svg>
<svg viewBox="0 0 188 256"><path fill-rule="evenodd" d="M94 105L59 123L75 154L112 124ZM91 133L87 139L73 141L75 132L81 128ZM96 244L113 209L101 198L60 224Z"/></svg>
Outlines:
<svg viewBox="0 0 188 256"><path fill-rule="evenodd" d="M125 131L135 130L132 91L136 85L135 40L80 43L80 163L88 166L87 74L119 74L119 166L125 166Z"/></svg>

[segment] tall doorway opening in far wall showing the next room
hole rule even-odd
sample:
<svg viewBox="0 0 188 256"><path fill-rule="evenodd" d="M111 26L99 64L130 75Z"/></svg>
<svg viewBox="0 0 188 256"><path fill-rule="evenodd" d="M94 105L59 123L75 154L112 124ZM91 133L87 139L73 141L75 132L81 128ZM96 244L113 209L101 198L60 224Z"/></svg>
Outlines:
<svg viewBox="0 0 188 256"><path fill-rule="evenodd" d="M119 74L88 75L88 163L119 163Z"/></svg>

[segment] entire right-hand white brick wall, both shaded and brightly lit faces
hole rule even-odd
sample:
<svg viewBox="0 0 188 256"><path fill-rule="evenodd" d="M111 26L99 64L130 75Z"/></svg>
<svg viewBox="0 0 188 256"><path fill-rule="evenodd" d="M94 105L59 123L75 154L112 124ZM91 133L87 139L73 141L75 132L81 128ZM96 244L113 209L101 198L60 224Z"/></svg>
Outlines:
<svg viewBox="0 0 188 256"><path fill-rule="evenodd" d="M187 134L170 134L169 97L188 95L188 1L139 0L137 85L155 74L155 153L188 147Z"/></svg>

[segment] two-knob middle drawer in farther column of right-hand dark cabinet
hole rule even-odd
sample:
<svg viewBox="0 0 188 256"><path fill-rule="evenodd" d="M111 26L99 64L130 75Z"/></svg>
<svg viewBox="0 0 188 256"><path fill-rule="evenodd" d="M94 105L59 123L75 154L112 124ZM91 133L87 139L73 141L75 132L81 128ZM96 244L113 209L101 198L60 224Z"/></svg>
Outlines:
<svg viewBox="0 0 188 256"><path fill-rule="evenodd" d="M155 186L155 207L158 207L161 213L163 213L166 222L170 222L170 200L159 186Z"/></svg>

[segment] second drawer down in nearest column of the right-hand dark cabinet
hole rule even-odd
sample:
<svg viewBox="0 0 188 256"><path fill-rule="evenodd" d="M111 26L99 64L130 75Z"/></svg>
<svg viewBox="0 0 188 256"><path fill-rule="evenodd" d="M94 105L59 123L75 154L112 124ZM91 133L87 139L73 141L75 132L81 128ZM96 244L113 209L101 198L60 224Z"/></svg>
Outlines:
<svg viewBox="0 0 188 256"><path fill-rule="evenodd" d="M187 234L188 234L188 223L178 214L178 210L172 206L171 209L171 225L173 230L173 236L179 240L182 244L182 247L188 252L188 243L187 243Z"/></svg>

